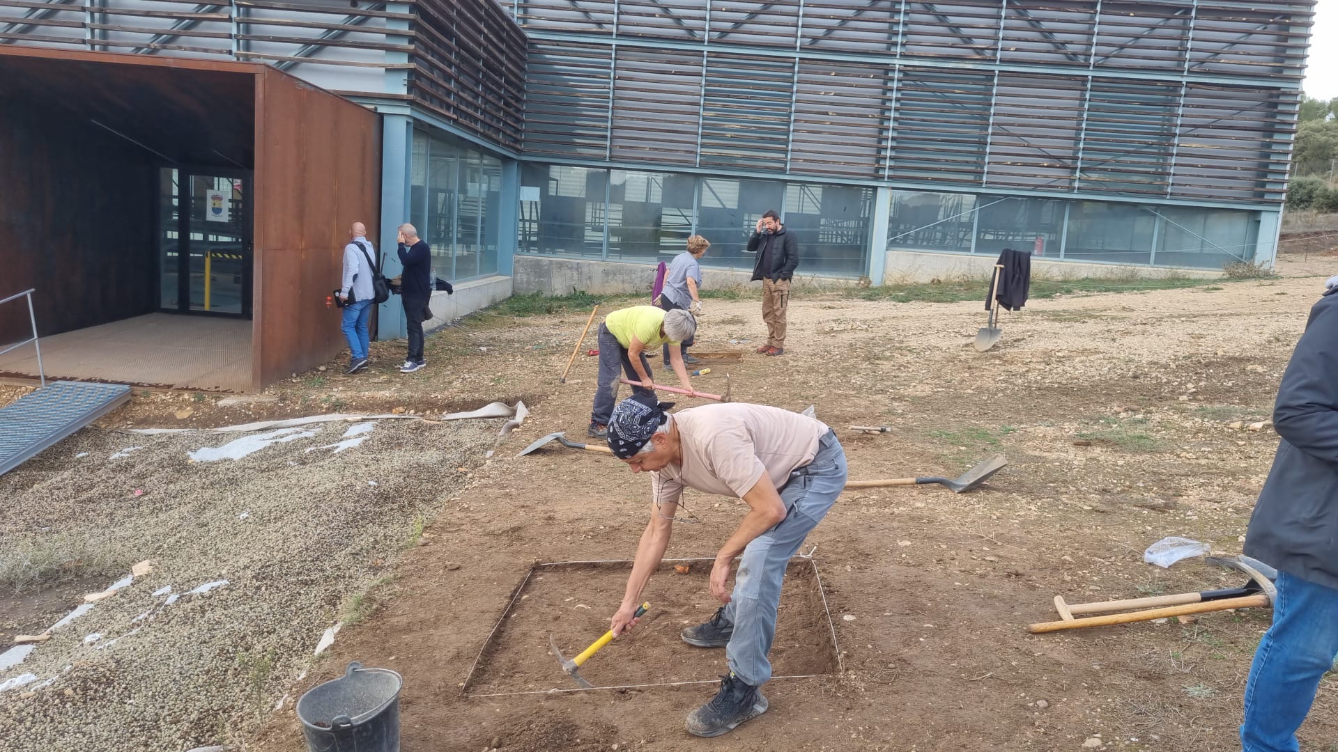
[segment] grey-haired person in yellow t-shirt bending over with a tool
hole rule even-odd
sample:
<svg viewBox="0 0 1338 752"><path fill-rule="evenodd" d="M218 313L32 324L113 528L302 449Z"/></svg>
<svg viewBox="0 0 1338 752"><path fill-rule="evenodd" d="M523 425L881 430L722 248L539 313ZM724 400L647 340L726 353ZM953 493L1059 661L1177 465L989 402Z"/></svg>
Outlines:
<svg viewBox="0 0 1338 752"><path fill-rule="evenodd" d="M669 365L678 375L678 383L692 392L692 379L682 364L678 345L697 333L697 320L686 310L664 310L654 305L634 305L614 310L599 324L599 385L594 392L590 411L591 439L609 436L609 417L618 396L618 373L625 372L632 381L653 383L650 361L645 351L669 347ZM654 396L653 389L633 387L634 393Z"/></svg>

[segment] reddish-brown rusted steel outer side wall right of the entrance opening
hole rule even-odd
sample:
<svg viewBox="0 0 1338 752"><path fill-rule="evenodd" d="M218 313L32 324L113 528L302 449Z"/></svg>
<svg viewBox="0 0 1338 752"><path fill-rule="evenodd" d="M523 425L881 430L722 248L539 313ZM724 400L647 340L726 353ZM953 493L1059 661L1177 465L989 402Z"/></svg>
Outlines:
<svg viewBox="0 0 1338 752"><path fill-rule="evenodd" d="M380 143L375 112L272 68L257 75L254 388L344 347L325 296L340 282L348 226L379 237Z"/></svg>

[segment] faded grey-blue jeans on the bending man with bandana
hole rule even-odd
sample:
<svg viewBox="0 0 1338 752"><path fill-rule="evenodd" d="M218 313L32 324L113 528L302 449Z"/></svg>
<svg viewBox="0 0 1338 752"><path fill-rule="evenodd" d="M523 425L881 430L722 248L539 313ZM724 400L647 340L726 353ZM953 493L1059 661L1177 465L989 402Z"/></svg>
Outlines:
<svg viewBox="0 0 1338 752"><path fill-rule="evenodd" d="M724 620L735 625L725 646L729 670L744 684L760 686L771 681L771 642L776 637L776 609L789 558L804 538L827 516L846 487L846 451L836 434L828 431L818 444L814 462L796 468L780 490L785 519L753 538L739 559L735 590Z"/></svg>

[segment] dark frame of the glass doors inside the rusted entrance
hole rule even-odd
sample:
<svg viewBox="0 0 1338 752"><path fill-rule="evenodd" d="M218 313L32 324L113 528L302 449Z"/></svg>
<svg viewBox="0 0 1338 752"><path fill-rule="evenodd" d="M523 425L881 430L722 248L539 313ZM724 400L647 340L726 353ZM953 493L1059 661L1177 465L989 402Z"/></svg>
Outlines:
<svg viewBox="0 0 1338 752"><path fill-rule="evenodd" d="M158 310L163 313L183 313L187 316L218 316L222 318L252 318L252 286L254 282L256 270L256 248L254 248L254 209L252 201L252 186L254 185L254 171L240 170L235 167L206 167L197 165L161 165L161 167L169 167L177 170L177 306L163 308L159 304ZM191 195L191 183L195 177L207 178L229 178L242 181L242 252L245 258L242 260L242 310L241 313L227 313L222 310L194 310L190 306L190 202L194 199ZM162 179L162 173L159 171L159 179ZM159 190L158 197L162 197ZM159 217L162 213L159 211ZM161 222L161 219L159 219ZM165 226L158 227L158 233L165 230ZM158 285L162 285L163 269L163 254L158 253Z"/></svg>

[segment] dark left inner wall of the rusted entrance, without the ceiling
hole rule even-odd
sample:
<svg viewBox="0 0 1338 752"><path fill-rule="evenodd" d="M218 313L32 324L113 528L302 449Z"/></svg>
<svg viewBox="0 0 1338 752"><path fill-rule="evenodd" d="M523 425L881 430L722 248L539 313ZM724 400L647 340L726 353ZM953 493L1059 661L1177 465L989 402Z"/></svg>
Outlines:
<svg viewBox="0 0 1338 752"><path fill-rule="evenodd" d="M0 297L36 288L41 336L155 310L157 174L102 128L0 98ZM0 344L31 332L21 298L0 306Z"/></svg>

